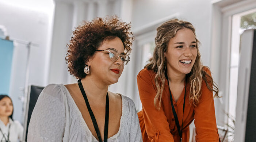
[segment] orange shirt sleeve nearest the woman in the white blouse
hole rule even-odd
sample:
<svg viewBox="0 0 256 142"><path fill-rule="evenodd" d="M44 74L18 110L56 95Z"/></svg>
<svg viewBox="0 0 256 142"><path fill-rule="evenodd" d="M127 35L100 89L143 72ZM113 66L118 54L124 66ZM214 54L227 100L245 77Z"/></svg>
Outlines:
<svg viewBox="0 0 256 142"><path fill-rule="evenodd" d="M146 133L149 140L151 142L174 142L163 107L161 106L160 110L154 107L156 90L154 89L149 71L143 69L137 76L137 82Z"/></svg>

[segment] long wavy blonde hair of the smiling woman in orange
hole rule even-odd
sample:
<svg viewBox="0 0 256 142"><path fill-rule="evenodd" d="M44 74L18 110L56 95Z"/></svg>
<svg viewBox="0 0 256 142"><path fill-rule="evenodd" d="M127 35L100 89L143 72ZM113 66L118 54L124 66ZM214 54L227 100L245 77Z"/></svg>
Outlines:
<svg viewBox="0 0 256 142"><path fill-rule="evenodd" d="M145 66L146 69L153 70L156 73L154 81L156 84L157 93L154 97L154 106L158 110L161 107L161 98L165 82L166 61L164 53L167 51L167 46L170 39L175 37L178 30L183 28L188 28L195 34L195 28L190 22L187 21L172 19L161 24L161 26L157 28L157 35L155 38L156 47L154 49L153 57L149 59L149 63ZM192 67L191 72L187 74L187 81L190 82L189 98L192 100L192 104L195 106L198 104L201 96L202 79L205 80L207 88L210 91L215 92L214 97L219 97L217 84L215 84L213 78L203 69L208 67L203 66L200 61L201 55L198 49L199 43L200 42L198 39L196 39L197 56L195 59L195 64Z"/></svg>

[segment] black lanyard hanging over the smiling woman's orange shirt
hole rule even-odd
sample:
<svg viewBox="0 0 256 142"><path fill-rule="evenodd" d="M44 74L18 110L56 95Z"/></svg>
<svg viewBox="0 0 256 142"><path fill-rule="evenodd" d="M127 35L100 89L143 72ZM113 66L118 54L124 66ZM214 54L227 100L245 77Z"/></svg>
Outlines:
<svg viewBox="0 0 256 142"><path fill-rule="evenodd" d="M185 109L185 98L186 98L187 77L186 77L185 92L184 92L183 114L182 114L182 130L181 130L181 131L180 131L180 123L179 123L179 119L178 119L178 116L177 116L176 111L175 111L175 109L174 109L173 102L172 102L172 93L171 93L171 90L170 90L170 85L169 85L169 80L168 80L167 72L165 72L165 77L166 77L166 79L167 79L168 87L169 87L169 91L170 91L170 100L171 100L171 104L172 104L172 113L173 113L173 115L174 115L175 123L176 123L177 129L178 129L179 135L180 135L180 142L182 142L183 115L184 115L184 109Z"/></svg>

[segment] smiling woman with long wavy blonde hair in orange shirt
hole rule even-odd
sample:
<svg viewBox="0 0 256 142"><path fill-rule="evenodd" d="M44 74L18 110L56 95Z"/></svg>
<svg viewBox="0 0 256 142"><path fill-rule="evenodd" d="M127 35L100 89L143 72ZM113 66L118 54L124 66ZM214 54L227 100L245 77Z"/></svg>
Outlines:
<svg viewBox="0 0 256 142"><path fill-rule="evenodd" d="M191 23L173 19L157 28L153 57L137 76L144 142L188 142L194 121L197 142L218 142L210 69L200 62Z"/></svg>

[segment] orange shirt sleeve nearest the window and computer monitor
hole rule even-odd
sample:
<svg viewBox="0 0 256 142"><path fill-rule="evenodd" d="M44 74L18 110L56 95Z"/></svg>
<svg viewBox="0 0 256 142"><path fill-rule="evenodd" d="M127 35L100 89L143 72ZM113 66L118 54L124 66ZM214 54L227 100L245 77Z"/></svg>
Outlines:
<svg viewBox="0 0 256 142"><path fill-rule="evenodd" d="M209 69L205 69L211 75ZM202 95L195 107L196 142L219 142L215 118L213 92L210 91L205 81L202 81Z"/></svg>

